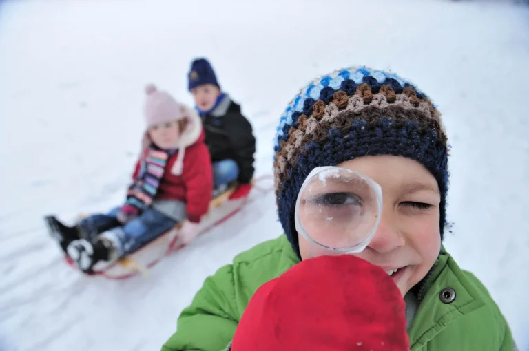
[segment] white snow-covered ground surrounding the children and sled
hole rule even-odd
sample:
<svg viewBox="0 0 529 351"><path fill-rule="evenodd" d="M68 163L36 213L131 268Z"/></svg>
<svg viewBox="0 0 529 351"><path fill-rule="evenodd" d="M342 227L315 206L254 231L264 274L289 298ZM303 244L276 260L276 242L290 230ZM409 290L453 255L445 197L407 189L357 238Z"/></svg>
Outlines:
<svg viewBox="0 0 529 351"><path fill-rule="evenodd" d="M289 99L310 78L366 64L411 78L453 145L446 246L490 289L529 350L529 10L449 1L4 1L0 6L0 343L6 350L158 350L203 279L281 233L273 194L156 266L90 279L42 217L123 201L143 86L191 103L207 56L258 138L258 174ZM0 345L0 350L2 346Z"/></svg>

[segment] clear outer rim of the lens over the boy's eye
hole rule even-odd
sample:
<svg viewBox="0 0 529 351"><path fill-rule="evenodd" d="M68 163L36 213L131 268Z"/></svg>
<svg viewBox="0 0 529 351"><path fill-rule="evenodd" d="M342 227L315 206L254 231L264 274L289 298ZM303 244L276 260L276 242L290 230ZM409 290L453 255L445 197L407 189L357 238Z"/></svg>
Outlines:
<svg viewBox="0 0 529 351"><path fill-rule="evenodd" d="M375 198L376 198L377 205L378 205L377 206L377 219L375 220L375 226L373 226L373 228L371 229L371 232L369 233L369 235L366 236L366 238L364 240L362 240L362 242L360 242L360 243L358 243L356 245L353 245L353 246L346 247L346 248L335 248L335 247L331 247L331 246L326 246L326 245L323 245L323 244L313 240L313 238L307 233L307 231L303 227L303 224L301 223L300 216L299 216L301 195L302 195L305 187L307 187L307 185L309 184L309 182L312 180L312 178L315 175L318 175L319 173L322 173L324 171L328 171L328 170L331 170L331 169L338 170L338 171L346 171L348 173L353 173L353 174L357 175L359 178L361 178L362 180L364 180L375 191ZM313 244L316 244L316 245L318 245L318 246L320 246L322 248L326 248L329 251L334 251L334 252L338 252L338 253L360 253L360 252L364 251L364 249L369 245L369 242L371 242L371 239L373 239L373 236L375 235L375 233L377 231L378 224L380 223L380 217L382 217L382 188L380 187L380 185L377 182L375 182L375 180L369 178L367 175L364 175L364 174L362 174L360 172L357 172L357 171L353 171L352 169L348 169L348 168L343 168L343 167L338 167L338 166L315 167L311 171L311 173L309 173L309 175L307 175L307 178L305 178L305 180L304 180L304 182L303 182L303 184L301 186L300 192L298 193L298 198L295 200L295 211L294 211L295 230L298 231L298 233L300 233L309 242L311 242Z"/></svg>

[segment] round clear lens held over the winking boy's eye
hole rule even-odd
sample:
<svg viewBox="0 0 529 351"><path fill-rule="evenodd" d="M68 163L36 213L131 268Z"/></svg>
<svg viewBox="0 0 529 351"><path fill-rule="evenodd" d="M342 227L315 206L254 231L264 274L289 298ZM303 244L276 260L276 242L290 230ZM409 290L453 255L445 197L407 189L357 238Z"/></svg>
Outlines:
<svg viewBox="0 0 529 351"><path fill-rule="evenodd" d="M316 167L298 194L295 229L324 254L360 253L375 235L381 215L377 182L351 169Z"/></svg>

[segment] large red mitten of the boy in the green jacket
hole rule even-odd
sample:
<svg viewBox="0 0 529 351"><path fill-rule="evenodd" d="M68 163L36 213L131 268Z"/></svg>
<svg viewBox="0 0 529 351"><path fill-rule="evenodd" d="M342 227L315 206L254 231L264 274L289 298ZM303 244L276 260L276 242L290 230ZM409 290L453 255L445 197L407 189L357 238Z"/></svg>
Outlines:
<svg viewBox="0 0 529 351"><path fill-rule="evenodd" d="M404 308L382 268L351 255L307 259L256 291L231 351L408 351Z"/></svg>

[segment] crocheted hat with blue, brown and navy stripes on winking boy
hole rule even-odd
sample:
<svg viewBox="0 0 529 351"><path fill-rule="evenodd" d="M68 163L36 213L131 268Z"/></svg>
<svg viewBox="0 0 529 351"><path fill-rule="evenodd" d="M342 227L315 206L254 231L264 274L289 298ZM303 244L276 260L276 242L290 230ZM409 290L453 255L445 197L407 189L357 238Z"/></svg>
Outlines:
<svg viewBox="0 0 529 351"><path fill-rule="evenodd" d="M278 214L295 253L295 200L315 167L368 155L395 155L428 169L441 192L440 230L446 225L448 143L430 98L396 74L349 67L315 79L289 103L274 139Z"/></svg>

